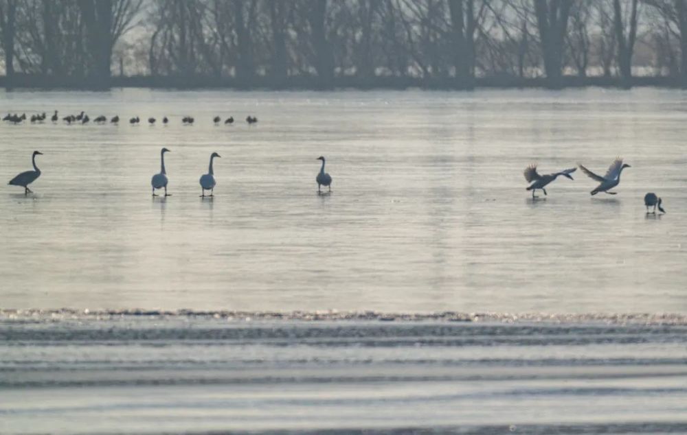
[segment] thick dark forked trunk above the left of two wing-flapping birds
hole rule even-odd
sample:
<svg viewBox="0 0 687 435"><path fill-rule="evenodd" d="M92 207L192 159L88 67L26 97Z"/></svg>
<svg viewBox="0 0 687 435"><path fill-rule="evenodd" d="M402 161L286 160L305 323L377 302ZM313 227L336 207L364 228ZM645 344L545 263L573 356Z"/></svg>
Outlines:
<svg viewBox="0 0 687 435"><path fill-rule="evenodd" d="M571 5L571 0L534 0L544 70L548 86L552 89L559 89L563 85L561 60Z"/></svg>

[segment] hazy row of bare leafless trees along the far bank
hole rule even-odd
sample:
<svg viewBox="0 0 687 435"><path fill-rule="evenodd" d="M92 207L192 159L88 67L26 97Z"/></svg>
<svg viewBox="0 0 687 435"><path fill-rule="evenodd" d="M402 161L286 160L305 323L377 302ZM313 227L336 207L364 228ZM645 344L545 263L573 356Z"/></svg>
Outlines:
<svg viewBox="0 0 687 435"><path fill-rule="evenodd" d="M0 27L7 87L687 87L687 0L0 0Z"/></svg>

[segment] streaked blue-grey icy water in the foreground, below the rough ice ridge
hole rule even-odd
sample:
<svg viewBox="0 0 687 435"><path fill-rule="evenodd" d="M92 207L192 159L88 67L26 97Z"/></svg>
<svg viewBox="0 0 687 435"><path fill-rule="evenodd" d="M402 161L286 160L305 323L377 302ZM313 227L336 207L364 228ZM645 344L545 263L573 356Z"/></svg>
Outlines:
<svg viewBox="0 0 687 435"><path fill-rule="evenodd" d="M5 311L0 433L687 434L684 318L303 318Z"/></svg>

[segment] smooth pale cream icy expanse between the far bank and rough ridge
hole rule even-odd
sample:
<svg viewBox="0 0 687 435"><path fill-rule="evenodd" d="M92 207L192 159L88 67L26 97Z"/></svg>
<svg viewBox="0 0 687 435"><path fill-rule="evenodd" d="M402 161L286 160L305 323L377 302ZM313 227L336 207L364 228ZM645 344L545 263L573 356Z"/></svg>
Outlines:
<svg viewBox="0 0 687 435"><path fill-rule="evenodd" d="M0 98L120 126L3 123L4 307L687 312L687 94L117 90ZM181 126L194 115L196 125ZM232 127L214 115L234 115ZM242 121L256 115L258 125ZM128 117L144 122L130 126ZM170 126L145 119L167 115ZM159 123L159 120L158 120ZM170 193L150 197L166 161ZM216 151L214 200L198 178ZM333 192L318 196L317 156ZM581 174L532 202L523 168ZM655 191L668 214L646 216Z"/></svg>

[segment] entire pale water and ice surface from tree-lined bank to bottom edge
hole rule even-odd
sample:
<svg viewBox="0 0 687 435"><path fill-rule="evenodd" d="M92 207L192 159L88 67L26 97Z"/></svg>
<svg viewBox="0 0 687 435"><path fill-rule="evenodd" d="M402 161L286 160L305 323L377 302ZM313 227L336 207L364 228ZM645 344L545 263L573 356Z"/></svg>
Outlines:
<svg viewBox="0 0 687 435"><path fill-rule="evenodd" d="M54 108L123 122L0 125L3 179L45 153L34 195L0 193L0 432L687 433L687 94L0 99ZM616 155L617 196L524 189Z"/></svg>

